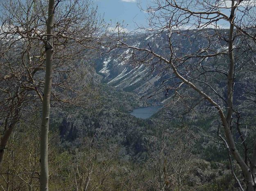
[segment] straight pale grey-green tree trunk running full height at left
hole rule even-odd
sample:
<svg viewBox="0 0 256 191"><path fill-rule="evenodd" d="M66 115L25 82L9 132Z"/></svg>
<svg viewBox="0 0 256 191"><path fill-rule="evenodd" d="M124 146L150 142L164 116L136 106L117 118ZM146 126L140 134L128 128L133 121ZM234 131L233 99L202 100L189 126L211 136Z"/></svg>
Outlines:
<svg viewBox="0 0 256 191"><path fill-rule="evenodd" d="M52 58L53 58L53 20L54 20L54 0L49 0L48 7L48 20L47 27L47 39L45 43L46 52L46 69L45 69L45 86L43 91L43 111L42 111L42 123L41 123L41 136L40 136L40 190L48 191L48 132L49 132L49 120L50 120L50 94L52 88Z"/></svg>

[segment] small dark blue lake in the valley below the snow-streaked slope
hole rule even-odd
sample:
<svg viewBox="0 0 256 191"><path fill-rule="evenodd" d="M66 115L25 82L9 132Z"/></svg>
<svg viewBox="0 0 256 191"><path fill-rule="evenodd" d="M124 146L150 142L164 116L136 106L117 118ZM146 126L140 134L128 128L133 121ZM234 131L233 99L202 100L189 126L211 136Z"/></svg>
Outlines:
<svg viewBox="0 0 256 191"><path fill-rule="evenodd" d="M147 119L150 118L154 113L159 111L162 106L150 106L150 107L140 107L134 109L130 114L134 115L136 118Z"/></svg>

